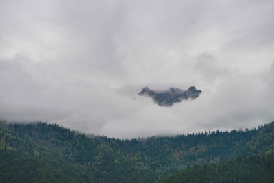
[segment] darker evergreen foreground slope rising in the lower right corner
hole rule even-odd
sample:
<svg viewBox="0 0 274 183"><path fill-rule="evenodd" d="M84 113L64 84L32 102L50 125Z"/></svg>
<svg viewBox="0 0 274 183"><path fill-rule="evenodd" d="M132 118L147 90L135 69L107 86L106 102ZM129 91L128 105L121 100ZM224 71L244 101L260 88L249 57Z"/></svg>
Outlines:
<svg viewBox="0 0 274 183"><path fill-rule="evenodd" d="M174 173L162 180L163 183L177 182L274 182L274 155L251 155L248 158L216 164L195 165Z"/></svg>

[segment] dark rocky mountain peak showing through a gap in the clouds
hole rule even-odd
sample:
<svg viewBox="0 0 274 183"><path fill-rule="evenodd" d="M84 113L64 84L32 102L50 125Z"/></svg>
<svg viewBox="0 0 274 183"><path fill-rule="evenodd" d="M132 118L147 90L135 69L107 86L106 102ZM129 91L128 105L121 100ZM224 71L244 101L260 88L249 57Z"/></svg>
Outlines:
<svg viewBox="0 0 274 183"><path fill-rule="evenodd" d="M172 106L173 103L179 103L187 99L196 99L199 97L201 90L196 90L194 86L188 90L181 90L179 88L169 88L169 90L151 90L148 87L142 88L138 95L151 97L159 106Z"/></svg>

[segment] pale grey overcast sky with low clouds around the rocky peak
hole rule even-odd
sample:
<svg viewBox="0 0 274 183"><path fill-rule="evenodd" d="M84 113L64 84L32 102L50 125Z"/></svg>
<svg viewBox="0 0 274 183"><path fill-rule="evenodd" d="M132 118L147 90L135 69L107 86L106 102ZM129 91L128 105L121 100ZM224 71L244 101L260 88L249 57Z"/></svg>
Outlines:
<svg viewBox="0 0 274 183"><path fill-rule="evenodd" d="M0 118L115 138L269 123L273 17L273 0L0 0ZM145 86L203 92L161 107Z"/></svg>

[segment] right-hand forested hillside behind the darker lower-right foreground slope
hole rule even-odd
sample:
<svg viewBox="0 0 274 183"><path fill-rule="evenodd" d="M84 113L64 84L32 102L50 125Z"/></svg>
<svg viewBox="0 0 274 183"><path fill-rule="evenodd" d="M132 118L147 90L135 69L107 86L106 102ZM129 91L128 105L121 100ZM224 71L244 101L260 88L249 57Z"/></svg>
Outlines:
<svg viewBox="0 0 274 183"><path fill-rule="evenodd" d="M238 156L263 155L274 149L274 123L251 130L198 132L132 140L108 138L110 145L137 164L165 177L188 164L211 164Z"/></svg>

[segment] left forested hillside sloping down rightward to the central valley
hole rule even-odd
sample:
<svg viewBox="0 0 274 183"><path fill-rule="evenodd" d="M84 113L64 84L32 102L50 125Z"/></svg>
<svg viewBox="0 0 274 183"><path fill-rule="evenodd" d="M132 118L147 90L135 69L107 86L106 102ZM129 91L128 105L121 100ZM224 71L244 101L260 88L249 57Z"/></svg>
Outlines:
<svg viewBox="0 0 274 183"><path fill-rule="evenodd" d="M139 169L134 162L128 160L114 151L105 137L88 138L84 134L70 131L58 125L36 123L29 125L1 125L1 153L10 158L1 161L2 180L8 180L20 169L19 177L28 175L32 170L22 169L22 162L27 162L32 167L34 164L44 164L32 173L40 182L41 176L51 178L64 178L62 182L155 182L155 175L145 169ZM12 164L12 157L17 157ZM27 159L31 159L27 161ZM34 162L33 162L34 161ZM36 163L37 162L37 163ZM8 164L8 166L7 166ZM58 166L55 166L55 165ZM66 166L70 165L70 167ZM25 165L24 165L25 166ZM63 169L63 168L66 169ZM70 177L77 176L74 181ZM60 175L57 173L60 173ZM56 174L56 175L55 175ZM81 174L84 174L84 178ZM29 175L29 177L32 177ZM88 179L85 179L87 178ZM21 180L21 178L16 178ZM27 179L26 179L27 180ZM47 179L45 179L45 182ZM18 181L21 182L21 181ZM53 181L54 182L54 181Z"/></svg>

